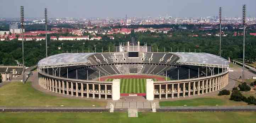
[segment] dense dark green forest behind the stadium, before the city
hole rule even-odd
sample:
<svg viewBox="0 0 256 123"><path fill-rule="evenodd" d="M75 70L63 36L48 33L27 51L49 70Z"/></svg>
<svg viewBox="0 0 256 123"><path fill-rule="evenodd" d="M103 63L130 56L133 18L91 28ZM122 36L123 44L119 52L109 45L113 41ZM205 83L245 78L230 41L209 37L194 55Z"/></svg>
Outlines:
<svg viewBox="0 0 256 123"><path fill-rule="evenodd" d="M241 30L240 30L241 31ZM48 40L48 56L58 53L73 53L82 52L110 52L116 51L115 46L119 42L127 42L131 37L135 37L136 41L140 41L140 45L147 42L152 46L152 51L164 52L206 52L219 55L219 37L216 36L201 36L192 37L191 34L204 34L205 32L193 32L189 30L169 31L164 33L134 33L129 35L114 34L114 40L111 40L107 35L102 36L102 40L80 40L80 41L50 41ZM226 33L226 32L225 32ZM228 32L227 32L228 33ZM249 33L249 31L247 32ZM52 34L54 35L54 34ZM50 37L50 35L48 36ZM84 45L83 45L84 43ZM62 45L63 44L63 45ZM61 47L61 49L58 49ZM45 41L25 41L24 42L25 65L32 66L37 64L40 59L43 59L45 54ZM243 57L243 36L222 37L222 57L231 59ZM249 34L246 35L245 42L245 59L253 62L256 54L256 37ZM15 65L15 60L22 61L22 42L17 40L0 42L0 64Z"/></svg>

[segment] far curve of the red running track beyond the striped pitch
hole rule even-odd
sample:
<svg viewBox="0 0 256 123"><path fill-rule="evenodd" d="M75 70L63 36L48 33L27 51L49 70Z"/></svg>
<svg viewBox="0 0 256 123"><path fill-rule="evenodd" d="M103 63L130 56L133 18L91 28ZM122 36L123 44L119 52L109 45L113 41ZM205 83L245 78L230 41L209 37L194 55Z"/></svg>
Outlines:
<svg viewBox="0 0 256 123"><path fill-rule="evenodd" d="M111 78L113 78L113 79L119 79L119 78L155 78L158 81L165 81L164 77L154 76L154 75L113 75L113 76L101 77L100 80L105 81L105 80L111 79Z"/></svg>

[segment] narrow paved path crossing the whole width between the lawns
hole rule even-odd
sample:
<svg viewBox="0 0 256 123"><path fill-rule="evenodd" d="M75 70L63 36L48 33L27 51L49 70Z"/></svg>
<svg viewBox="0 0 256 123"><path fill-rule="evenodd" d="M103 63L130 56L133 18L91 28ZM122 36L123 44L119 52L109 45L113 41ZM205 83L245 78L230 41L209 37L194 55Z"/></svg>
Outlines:
<svg viewBox="0 0 256 123"><path fill-rule="evenodd" d="M128 109L137 111L138 109ZM88 107L0 107L0 112L108 112L106 108L88 108ZM127 111L127 110L114 110ZM144 110L150 111L150 110ZM256 111L256 106L191 106L191 107L160 107L157 111Z"/></svg>

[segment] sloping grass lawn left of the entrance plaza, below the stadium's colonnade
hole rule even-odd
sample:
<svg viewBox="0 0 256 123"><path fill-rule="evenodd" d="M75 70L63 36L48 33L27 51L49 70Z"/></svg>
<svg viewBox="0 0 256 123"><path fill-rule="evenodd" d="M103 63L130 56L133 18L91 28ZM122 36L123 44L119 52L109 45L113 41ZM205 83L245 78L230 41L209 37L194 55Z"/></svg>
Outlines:
<svg viewBox="0 0 256 123"><path fill-rule="evenodd" d="M0 88L0 106L5 107L50 107L50 106L84 106L105 107L106 102L88 101L84 99L69 99L52 96L31 86L31 82L10 82Z"/></svg>

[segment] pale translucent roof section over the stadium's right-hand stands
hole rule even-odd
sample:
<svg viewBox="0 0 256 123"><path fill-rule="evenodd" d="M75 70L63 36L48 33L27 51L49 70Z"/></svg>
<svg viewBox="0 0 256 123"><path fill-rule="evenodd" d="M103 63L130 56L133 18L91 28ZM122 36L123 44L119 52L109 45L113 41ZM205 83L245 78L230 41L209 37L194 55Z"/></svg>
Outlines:
<svg viewBox="0 0 256 123"><path fill-rule="evenodd" d="M228 60L209 53L172 53L179 57L176 61L183 65L197 65L209 67L227 67Z"/></svg>

